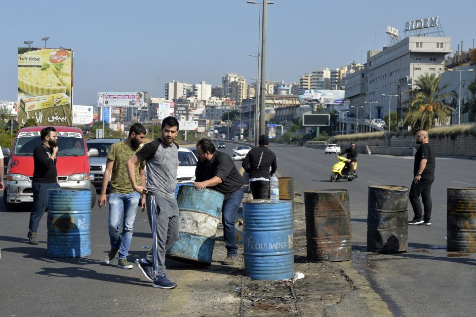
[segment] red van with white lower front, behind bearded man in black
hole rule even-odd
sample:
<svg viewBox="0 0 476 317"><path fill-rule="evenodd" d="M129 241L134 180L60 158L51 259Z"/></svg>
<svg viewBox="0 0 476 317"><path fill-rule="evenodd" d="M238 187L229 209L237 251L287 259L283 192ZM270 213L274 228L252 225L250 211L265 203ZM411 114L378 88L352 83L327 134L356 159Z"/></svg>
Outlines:
<svg viewBox="0 0 476 317"><path fill-rule="evenodd" d="M28 127L18 131L7 169L7 184L4 204L7 210L21 210L22 203L33 202L31 181L33 179L33 150L42 143L40 132L45 127ZM89 156L97 156L84 139L83 131L74 127L55 126L59 151L56 154L56 170L61 188L91 189L91 208L96 201L96 189L91 185Z"/></svg>

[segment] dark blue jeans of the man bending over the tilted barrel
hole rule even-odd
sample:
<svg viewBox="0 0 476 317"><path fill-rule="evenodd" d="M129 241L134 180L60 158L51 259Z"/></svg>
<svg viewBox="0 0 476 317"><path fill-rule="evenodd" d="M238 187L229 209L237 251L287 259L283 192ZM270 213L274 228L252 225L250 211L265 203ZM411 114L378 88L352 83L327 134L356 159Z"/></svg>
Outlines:
<svg viewBox="0 0 476 317"><path fill-rule="evenodd" d="M225 194L225 201L221 207L221 222L223 223L223 238L226 244L227 256L236 256L236 213L243 200L245 191L236 190Z"/></svg>

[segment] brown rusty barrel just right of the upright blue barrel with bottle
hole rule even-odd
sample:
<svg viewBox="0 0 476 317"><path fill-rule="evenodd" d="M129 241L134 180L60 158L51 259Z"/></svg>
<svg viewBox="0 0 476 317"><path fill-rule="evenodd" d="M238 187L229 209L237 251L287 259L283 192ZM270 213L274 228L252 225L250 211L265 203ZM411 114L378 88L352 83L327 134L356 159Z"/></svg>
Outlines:
<svg viewBox="0 0 476 317"><path fill-rule="evenodd" d="M347 190L304 191L307 260L349 261L352 250Z"/></svg>

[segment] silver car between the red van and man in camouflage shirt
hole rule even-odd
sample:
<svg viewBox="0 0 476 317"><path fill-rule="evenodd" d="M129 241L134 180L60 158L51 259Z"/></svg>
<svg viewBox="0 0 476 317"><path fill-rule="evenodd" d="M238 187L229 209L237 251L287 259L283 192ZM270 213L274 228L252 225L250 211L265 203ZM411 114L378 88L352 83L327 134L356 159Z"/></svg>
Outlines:
<svg viewBox="0 0 476 317"><path fill-rule="evenodd" d="M112 144L121 142L122 139L90 139L86 143L88 144L88 148L92 149L95 148L98 150L99 154L94 157L90 157L90 177L91 177L91 184L94 185L96 190L101 190L102 187L102 179L104 178L104 171L106 170L106 156L109 152L109 148ZM110 185L107 184L109 188Z"/></svg>

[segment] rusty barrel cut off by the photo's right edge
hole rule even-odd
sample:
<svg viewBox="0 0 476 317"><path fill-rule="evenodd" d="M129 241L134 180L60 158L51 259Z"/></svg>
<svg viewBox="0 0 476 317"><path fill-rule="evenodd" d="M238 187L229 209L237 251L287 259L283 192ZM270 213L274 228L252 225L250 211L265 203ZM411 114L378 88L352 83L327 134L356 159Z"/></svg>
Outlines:
<svg viewBox="0 0 476 317"><path fill-rule="evenodd" d="M476 188L448 188L446 248L476 252Z"/></svg>

